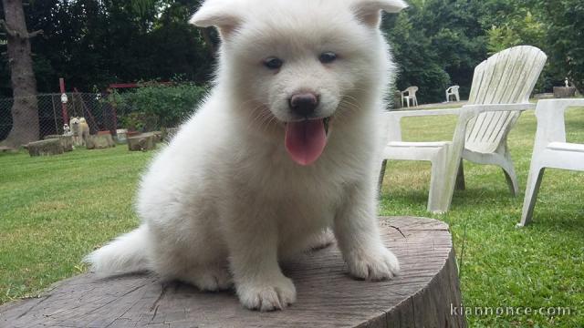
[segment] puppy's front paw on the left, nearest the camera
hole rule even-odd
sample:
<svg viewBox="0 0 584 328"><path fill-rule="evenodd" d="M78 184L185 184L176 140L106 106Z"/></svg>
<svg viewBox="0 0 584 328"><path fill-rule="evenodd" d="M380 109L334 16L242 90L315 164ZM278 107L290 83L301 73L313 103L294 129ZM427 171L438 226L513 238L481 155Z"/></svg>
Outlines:
<svg viewBox="0 0 584 328"><path fill-rule="evenodd" d="M237 286L239 301L250 310L282 310L296 302L296 287L285 276L266 282L245 282Z"/></svg>

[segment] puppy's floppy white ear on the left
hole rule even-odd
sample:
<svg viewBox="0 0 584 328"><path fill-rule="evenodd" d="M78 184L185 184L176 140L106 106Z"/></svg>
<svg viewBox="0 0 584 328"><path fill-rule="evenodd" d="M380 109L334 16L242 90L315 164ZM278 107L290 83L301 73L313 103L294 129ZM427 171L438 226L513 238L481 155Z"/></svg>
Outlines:
<svg viewBox="0 0 584 328"><path fill-rule="evenodd" d="M189 23L199 27L215 26L222 36L229 36L241 23L235 5L224 0L206 0Z"/></svg>

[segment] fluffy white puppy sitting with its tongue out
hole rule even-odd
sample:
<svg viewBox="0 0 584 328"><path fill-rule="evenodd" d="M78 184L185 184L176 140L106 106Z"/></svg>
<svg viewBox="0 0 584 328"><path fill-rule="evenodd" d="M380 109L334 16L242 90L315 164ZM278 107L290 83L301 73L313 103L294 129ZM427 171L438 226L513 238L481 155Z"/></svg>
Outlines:
<svg viewBox="0 0 584 328"><path fill-rule="evenodd" d="M399 271L376 178L391 82L381 10L401 0L207 0L223 43L213 91L141 180L140 228L92 252L102 275L150 270L249 309L295 302L278 261L332 228L359 279Z"/></svg>

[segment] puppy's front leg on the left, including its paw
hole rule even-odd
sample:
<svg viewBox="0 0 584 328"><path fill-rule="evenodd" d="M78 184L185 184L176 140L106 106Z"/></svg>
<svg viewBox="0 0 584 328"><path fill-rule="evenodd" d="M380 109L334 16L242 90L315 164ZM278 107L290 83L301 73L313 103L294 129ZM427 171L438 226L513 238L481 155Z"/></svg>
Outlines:
<svg viewBox="0 0 584 328"><path fill-rule="evenodd" d="M281 310L296 301L296 288L277 263L276 222L259 208L233 211L237 217L227 221L231 269L246 308Z"/></svg>

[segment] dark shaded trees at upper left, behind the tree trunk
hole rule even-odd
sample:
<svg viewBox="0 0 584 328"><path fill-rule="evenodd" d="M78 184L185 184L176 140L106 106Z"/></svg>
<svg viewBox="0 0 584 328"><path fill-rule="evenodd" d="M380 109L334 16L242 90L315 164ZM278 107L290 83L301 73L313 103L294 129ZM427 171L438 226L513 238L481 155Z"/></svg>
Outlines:
<svg viewBox="0 0 584 328"><path fill-rule="evenodd" d="M39 92L105 89L111 83L170 80L182 74L207 82L214 54L188 17L199 0L43 0L27 5ZM1 18L1 17L0 17ZM5 63L6 56L2 56ZM3 63L3 64L4 64ZM0 92L12 94L0 65Z"/></svg>

